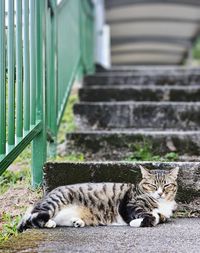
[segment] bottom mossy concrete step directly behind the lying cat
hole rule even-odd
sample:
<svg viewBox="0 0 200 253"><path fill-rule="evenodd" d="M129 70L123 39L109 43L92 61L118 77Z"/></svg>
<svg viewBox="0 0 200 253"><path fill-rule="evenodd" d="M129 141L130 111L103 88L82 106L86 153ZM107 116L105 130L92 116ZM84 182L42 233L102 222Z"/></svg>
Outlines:
<svg viewBox="0 0 200 253"><path fill-rule="evenodd" d="M130 182L141 180L139 164L148 169L179 167L177 201L188 204L200 197L200 163L159 162L85 162L46 163L44 166L45 192L68 184L84 182ZM55 176L56 175L56 176ZM197 209L199 206L196 207Z"/></svg>

